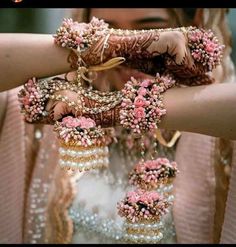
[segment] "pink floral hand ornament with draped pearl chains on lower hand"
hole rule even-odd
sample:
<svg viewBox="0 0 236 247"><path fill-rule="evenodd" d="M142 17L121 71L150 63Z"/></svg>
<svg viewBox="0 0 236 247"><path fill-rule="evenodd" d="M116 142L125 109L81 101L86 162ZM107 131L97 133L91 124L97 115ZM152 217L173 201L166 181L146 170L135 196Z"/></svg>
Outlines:
<svg viewBox="0 0 236 247"><path fill-rule="evenodd" d="M70 100L60 93L65 90L75 92L77 99ZM78 113L77 115L94 117L98 125L110 127L119 122L118 106L122 100L122 93L91 90L84 88L80 81L76 84L58 77L45 80L32 78L19 91L18 100L25 121L29 123L54 124L53 112L49 114L46 110L49 100L54 100L66 103Z"/></svg>

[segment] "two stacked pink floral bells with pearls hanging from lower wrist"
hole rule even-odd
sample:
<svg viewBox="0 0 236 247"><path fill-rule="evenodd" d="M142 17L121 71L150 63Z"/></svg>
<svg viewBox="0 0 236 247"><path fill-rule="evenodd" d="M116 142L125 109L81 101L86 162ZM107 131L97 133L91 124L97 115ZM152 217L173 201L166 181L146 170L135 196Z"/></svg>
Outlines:
<svg viewBox="0 0 236 247"><path fill-rule="evenodd" d="M128 192L117 205L118 214L126 219L127 240L158 243L163 238L162 219L174 200L172 181L177 172L176 162L166 158L141 160L130 172L129 183L138 189Z"/></svg>

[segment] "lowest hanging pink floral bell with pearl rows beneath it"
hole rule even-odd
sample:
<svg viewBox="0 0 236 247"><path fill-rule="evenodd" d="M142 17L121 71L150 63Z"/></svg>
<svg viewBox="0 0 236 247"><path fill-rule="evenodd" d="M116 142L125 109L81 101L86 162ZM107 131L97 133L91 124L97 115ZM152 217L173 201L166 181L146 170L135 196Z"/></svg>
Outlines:
<svg viewBox="0 0 236 247"><path fill-rule="evenodd" d="M136 243L157 243L163 238L161 217L170 203L155 191L141 189L128 192L117 204L118 214L125 218L125 238Z"/></svg>

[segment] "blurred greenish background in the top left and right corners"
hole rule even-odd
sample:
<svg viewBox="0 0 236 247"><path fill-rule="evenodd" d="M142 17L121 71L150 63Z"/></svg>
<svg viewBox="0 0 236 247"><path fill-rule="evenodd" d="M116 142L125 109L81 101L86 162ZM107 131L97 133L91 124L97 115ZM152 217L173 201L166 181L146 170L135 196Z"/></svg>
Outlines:
<svg viewBox="0 0 236 247"><path fill-rule="evenodd" d="M54 33L70 9L1 8L0 33ZM228 21L233 36L232 59L236 65L236 8L229 8Z"/></svg>

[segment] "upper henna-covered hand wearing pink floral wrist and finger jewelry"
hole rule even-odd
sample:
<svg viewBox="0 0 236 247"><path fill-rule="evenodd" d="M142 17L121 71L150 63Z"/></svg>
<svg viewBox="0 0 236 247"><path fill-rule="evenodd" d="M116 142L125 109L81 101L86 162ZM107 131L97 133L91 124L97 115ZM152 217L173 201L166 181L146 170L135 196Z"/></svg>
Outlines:
<svg viewBox="0 0 236 247"><path fill-rule="evenodd" d="M88 24L65 20L55 40L63 47L79 51L88 66L124 57L128 65L143 72L156 73L166 68L180 78L211 71L220 63L223 50L210 31L192 27L115 30L97 18ZM160 57L158 63L156 57Z"/></svg>

